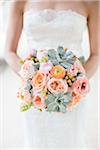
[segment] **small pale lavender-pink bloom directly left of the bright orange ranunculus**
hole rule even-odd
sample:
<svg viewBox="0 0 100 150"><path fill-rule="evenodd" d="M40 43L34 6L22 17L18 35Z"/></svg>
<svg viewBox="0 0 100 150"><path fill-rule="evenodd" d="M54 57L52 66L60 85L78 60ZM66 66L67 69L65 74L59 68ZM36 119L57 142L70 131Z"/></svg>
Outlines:
<svg viewBox="0 0 100 150"><path fill-rule="evenodd" d="M53 65L50 61L41 63L40 64L40 71L42 71L45 74L48 74L49 71L52 69Z"/></svg>

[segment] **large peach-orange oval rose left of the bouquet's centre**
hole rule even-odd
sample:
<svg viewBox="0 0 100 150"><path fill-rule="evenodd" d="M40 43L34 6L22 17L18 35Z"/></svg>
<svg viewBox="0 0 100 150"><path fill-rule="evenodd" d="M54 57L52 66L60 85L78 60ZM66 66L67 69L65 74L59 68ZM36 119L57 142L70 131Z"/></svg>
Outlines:
<svg viewBox="0 0 100 150"><path fill-rule="evenodd" d="M46 81L47 81L46 74L44 74L41 71L37 71L32 79L32 85L34 90L41 91L45 87Z"/></svg>

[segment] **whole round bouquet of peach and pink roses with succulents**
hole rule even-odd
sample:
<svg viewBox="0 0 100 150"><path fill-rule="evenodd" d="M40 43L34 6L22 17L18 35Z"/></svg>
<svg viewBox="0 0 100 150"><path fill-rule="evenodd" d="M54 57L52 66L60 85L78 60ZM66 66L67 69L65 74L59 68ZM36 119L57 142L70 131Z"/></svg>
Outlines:
<svg viewBox="0 0 100 150"><path fill-rule="evenodd" d="M70 50L33 50L21 61L19 72L22 87L21 111L33 107L40 111L62 112L71 110L86 95L88 79L80 60Z"/></svg>

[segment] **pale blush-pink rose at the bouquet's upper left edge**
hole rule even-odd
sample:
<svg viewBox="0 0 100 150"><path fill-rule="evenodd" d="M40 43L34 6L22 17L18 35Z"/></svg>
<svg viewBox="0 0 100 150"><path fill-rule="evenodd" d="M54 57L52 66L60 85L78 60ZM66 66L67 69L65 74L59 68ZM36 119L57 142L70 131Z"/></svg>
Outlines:
<svg viewBox="0 0 100 150"><path fill-rule="evenodd" d="M35 73L35 67L33 66L34 62L30 60L26 60L26 62L22 65L21 70L19 72L20 76L24 80L28 80L32 78Z"/></svg>

